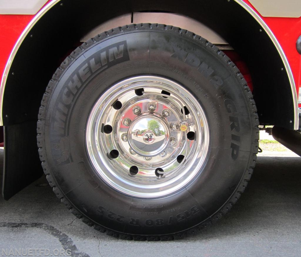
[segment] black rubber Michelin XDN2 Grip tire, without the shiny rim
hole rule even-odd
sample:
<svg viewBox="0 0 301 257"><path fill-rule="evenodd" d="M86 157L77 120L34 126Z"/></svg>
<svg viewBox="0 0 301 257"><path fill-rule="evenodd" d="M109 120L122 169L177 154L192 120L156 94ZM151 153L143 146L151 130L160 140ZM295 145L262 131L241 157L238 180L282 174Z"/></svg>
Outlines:
<svg viewBox="0 0 301 257"><path fill-rule="evenodd" d="M120 58L104 69L87 68L91 56L120 42L125 46ZM74 84L75 74L84 82L71 89L68 83ZM205 111L211 135L209 155L197 177L157 199L113 190L94 171L85 148L87 117L99 96L122 79L148 74L191 91ZM172 240L214 223L236 203L255 166L258 125L247 82L215 45L177 27L132 24L99 34L64 60L43 96L37 141L49 184L76 217L114 237Z"/></svg>

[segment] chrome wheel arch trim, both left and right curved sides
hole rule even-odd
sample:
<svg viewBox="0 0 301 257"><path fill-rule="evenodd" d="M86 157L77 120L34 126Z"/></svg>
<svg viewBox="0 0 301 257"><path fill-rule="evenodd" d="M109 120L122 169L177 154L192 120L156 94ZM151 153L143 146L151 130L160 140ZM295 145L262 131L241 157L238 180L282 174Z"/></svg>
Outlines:
<svg viewBox="0 0 301 257"><path fill-rule="evenodd" d="M21 34L21 36L19 37L16 45L13 48L13 51L11 52L11 55L8 59L8 62L6 63L5 66L5 70L2 76L2 80L1 80L1 88L0 88L0 98L1 98L1 105L0 105L0 125L3 125L3 119L2 119L2 105L3 105L3 93L4 93L4 89L5 89L5 84L6 84L6 80L7 80L7 76L8 76L8 72L11 68L11 63L14 60L14 57L21 45L21 43L23 42L23 40L25 39L25 37L27 36L27 34L29 33L30 29L32 29L32 27L37 23L37 21L51 8L53 7L57 2L59 2L60 0L53 0L51 1L48 5L46 5L41 11L39 11L39 13L33 18L33 20L27 25L26 29L24 29L23 33ZM287 71L287 76L289 78L290 81L290 87L291 87L291 91L293 94L293 105L294 105L294 129L298 129L298 125L299 125L299 115L298 115L298 101L297 101L297 92L296 92L296 85L293 79L293 73L290 69L290 65L287 61L287 58L279 44L279 42L277 41L276 37L274 36L274 34L272 33L272 31L268 28L268 26L265 24L265 22L261 19L261 17L249 6L247 5L245 2L243 2L243 0L234 0L235 2L237 2L239 5L241 5L250 15L252 15L252 17L262 26L262 28L265 30L265 32L268 34L268 36L270 37L270 39L272 40L272 42L274 43L276 49L278 50L278 53L280 54L280 57L284 63L285 69Z"/></svg>

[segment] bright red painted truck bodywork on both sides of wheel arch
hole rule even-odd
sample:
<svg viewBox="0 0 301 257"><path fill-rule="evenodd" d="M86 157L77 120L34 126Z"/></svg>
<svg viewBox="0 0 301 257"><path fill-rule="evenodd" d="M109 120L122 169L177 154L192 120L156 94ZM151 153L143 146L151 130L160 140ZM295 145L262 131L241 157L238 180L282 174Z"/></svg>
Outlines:
<svg viewBox="0 0 301 257"><path fill-rule="evenodd" d="M244 2L255 10L250 2L247 0ZM0 15L0 42L2 45L0 55L1 77L14 45L33 17L34 15ZM301 35L301 17L262 17L262 19L271 29L272 33L274 33L289 61L296 84L296 91L298 92L299 86L301 86L301 55L296 50L296 40ZM301 104L299 104L299 107L301 107Z"/></svg>

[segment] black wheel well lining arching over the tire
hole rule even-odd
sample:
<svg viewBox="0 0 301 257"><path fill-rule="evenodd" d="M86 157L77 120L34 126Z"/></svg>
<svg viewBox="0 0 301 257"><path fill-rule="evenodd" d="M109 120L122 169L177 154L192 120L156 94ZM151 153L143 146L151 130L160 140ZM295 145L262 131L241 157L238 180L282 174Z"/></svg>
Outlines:
<svg viewBox="0 0 301 257"><path fill-rule="evenodd" d="M278 50L247 10L225 0L59 1L36 22L15 55L5 85L3 124L36 122L45 87L73 46L99 24L141 11L186 15L222 36L247 63L260 123L294 129L290 79Z"/></svg>

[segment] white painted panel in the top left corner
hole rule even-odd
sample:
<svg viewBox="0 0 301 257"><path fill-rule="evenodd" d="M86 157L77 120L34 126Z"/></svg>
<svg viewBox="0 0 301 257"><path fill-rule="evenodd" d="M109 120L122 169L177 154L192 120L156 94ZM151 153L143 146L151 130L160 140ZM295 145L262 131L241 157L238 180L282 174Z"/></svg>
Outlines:
<svg viewBox="0 0 301 257"><path fill-rule="evenodd" d="M36 14L47 0L0 0L0 14Z"/></svg>

